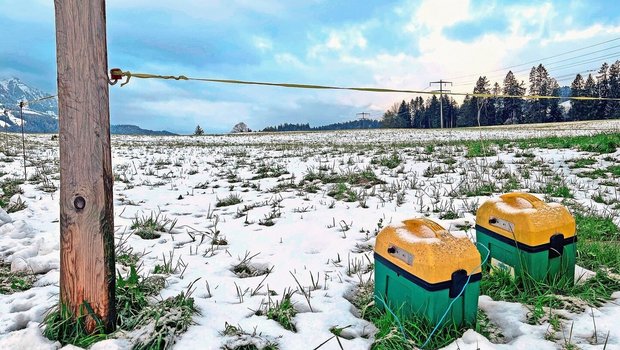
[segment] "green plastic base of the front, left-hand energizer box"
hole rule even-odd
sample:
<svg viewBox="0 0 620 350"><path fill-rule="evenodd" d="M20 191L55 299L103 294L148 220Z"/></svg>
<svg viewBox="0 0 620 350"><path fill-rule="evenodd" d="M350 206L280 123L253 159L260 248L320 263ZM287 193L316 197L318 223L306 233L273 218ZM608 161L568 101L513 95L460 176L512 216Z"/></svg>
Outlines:
<svg viewBox="0 0 620 350"><path fill-rule="evenodd" d="M449 288L428 291L375 260L375 305L381 309L383 303L376 300L378 298L384 300L392 311L399 312L402 317L422 316L435 325L453 300L449 293ZM480 281L470 282L442 323L475 325L479 295Z"/></svg>

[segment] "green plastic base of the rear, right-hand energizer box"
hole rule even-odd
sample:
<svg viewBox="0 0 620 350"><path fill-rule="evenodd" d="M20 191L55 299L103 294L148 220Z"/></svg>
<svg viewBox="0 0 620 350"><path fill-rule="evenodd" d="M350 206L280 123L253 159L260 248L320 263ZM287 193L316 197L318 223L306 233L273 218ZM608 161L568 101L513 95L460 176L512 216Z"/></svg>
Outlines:
<svg viewBox="0 0 620 350"><path fill-rule="evenodd" d="M476 231L476 241L489 249L487 267L499 262L500 265L514 271L515 275L525 272L536 281L568 279L574 282L576 243L565 245L562 255L550 259L548 250L537 253L526 252L480 231ZM478 250L480 254L487 253L480 247Z"/></svg>

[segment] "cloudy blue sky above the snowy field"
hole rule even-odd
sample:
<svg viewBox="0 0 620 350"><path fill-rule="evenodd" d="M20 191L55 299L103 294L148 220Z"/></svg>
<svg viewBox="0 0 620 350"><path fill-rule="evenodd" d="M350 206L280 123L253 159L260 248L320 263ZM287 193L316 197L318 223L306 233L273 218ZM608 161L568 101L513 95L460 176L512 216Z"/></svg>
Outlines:
<svg viewBox="0 0 620 350"><path fill-rule="evenodd" d="M501 84L507 67L527 82L540 62L570 85L577 72L620 59L616 1L107 0L108 62L163 75L426 91L444 79L458 92L480 75ZM53 1L0 0L0 25L0 79L55 93ZM110 91L113 124L177 133L380 118L414 97L140 79Z"/></svg>

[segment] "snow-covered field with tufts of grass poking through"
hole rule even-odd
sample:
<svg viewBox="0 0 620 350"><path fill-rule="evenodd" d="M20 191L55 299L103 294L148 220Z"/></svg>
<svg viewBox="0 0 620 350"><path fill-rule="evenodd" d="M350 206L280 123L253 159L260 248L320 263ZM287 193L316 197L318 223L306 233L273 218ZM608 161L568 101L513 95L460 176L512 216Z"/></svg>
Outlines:
<svg viewBox="0 0 620 350"><path fill-rule="evenodd" d="M144 276L171 262L161 274L165 287L158 299L186 291L198 279L193 297L200 314L174 349L235 349L251 343L314 349L330 338L320 349L340 349L338 340L344 349L367 349L376 328L359 317L349 299L372 280L372 247L381 227L427 216L454 234L473 237L475 208L504 189L559 201L544 188L566 186L576 205L608 213L619 209L620 179L577 175L618 164L620 150L599 154L486 142L483 147L492 156L466 157L467 149L457 141L601 130L618 132L620 121L452 131L113 136L117 242L140 254ZM27 290L0 294L0 349L57 349L60 344L42 336L39 322L58 302L58 142L50 135L27 139L28 174L36 176L21 185L23 194L11 198L13 203L21 198L25 209L0 211L0 262L10 264L12 272L34 274L35 281ZM23 176L17 141L11 136L12 155L0 156L2 179ZM4 140L0 146L5 148ZM594 164L571 166L581 158ZM390 159L398 160L393 168ZM136 217L158 214L176 220L171 232L156 239L131 234ZM117 269L128 272L120 263ZM296 331L264 312L288 290ZM553 337L548 323L527 322L531 307L481 296L480 310L503 335L501 344L469 330L448 348L560 349L567 347L562 332L572 328L571 346L603 349L609 332L606 349L620 349L619 303L617 292L603 306L563 311L564 326ZM227 324L237 332L225 332ZM347 326L333 338L330 329ZM92 348L129 349L131 339L131 334L119 335Z"/></svg>

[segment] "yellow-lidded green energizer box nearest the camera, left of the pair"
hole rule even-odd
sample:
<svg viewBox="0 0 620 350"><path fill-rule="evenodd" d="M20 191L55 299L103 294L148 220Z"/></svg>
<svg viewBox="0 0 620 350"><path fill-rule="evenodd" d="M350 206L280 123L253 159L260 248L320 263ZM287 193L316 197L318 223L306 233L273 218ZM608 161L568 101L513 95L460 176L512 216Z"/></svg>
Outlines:
<svg viewBox="0 0 620 350"><path fill-rule="evenodd" d="M476 323L480 254L467 237L457 238L428 219L405 220L377 235L374 255L378 307L437 324L458 296L443 323Z"/></svg>

